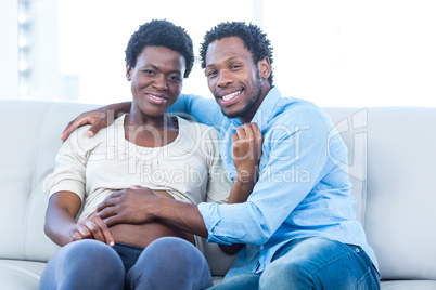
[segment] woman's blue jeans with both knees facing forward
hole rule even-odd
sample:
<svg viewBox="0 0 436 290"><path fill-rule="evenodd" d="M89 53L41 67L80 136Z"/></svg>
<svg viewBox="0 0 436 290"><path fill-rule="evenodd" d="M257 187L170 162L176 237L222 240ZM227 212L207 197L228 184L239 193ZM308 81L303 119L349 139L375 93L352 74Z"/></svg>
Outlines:
<svg viewBox="0 0 436 290"><path fill-rule="evenodd" d="M47 264L40 289L206 289L213 285L205 258L184 239L159 238L143 250L133 247L133 254L129 247L117 247L115 251L92 239L64 246Z"/></svg>

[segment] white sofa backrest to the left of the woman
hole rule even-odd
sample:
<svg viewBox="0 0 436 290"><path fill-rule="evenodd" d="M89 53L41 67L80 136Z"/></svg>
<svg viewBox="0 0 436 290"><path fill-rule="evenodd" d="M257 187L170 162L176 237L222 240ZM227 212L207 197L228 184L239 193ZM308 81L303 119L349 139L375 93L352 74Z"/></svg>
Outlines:
<svg viewBox="0 0 436 290"><path fill-rule="evenodd" d="M46 262L57 246L43 232L48 198L42 182L53 171L67 122L94 106L30 101L0 104L0 259Z"/></svg>

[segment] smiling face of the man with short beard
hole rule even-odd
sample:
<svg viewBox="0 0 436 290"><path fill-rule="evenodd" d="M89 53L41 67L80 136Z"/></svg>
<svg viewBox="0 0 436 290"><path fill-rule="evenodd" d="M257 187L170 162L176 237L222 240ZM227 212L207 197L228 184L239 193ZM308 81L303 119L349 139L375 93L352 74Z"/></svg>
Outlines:
<svg viewBox="0 0 436 290"><path fill-rule="evenodd" d="M213 41L206 52L206 77L210 92L230 117L249 122L270 87L269 61L253 62L239 37Z"/></svg>

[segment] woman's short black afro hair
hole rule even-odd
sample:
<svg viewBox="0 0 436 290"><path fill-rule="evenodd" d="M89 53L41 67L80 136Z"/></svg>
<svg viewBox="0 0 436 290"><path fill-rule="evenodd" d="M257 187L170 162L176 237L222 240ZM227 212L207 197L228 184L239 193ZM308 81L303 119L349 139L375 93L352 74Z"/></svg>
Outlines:
<svg viewBox="0 0 436 290"><path fill-rule="evenodd" d="M139 27L130 37L126 49L126 63L137 65L137 58L145 47L164 47L183 55L187 62L184 78L188 78L194 64L194 50L191 37L180 26L168 21L151 21Z"/></svg>

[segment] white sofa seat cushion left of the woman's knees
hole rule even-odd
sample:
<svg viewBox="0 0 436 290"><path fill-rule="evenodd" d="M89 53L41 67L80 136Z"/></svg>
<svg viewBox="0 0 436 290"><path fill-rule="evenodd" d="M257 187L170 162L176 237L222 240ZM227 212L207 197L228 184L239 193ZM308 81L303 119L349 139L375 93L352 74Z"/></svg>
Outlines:
<svg viewBox="0 0 436 290"><path fill-rule="evenodd" d="M0 289L38 290L46 263L0 260Z"/></svg>

